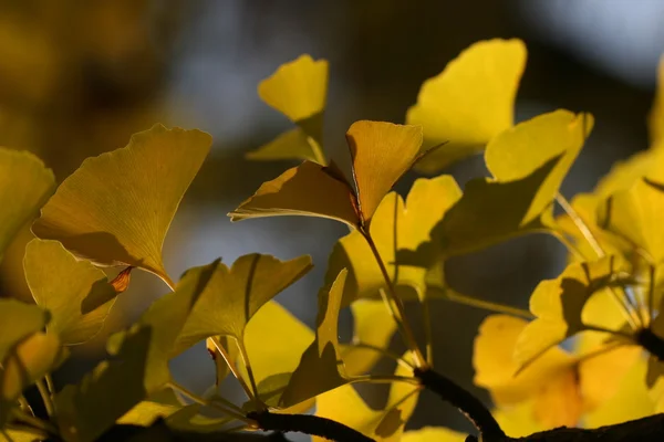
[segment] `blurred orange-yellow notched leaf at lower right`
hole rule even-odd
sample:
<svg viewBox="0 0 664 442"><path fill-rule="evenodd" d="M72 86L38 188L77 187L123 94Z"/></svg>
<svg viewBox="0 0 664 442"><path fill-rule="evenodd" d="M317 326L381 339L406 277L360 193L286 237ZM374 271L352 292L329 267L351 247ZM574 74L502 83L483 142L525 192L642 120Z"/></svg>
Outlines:
<svg viewBox="0 0 664 442"><path fill-rule="evenodd" d="M574 358L553 347L518 372L512 352L526 325L507 315L484 320L473 352L475 383L488 389L498 407L532 401L535 417L546 428L577 425L582 397Z"/></svg>

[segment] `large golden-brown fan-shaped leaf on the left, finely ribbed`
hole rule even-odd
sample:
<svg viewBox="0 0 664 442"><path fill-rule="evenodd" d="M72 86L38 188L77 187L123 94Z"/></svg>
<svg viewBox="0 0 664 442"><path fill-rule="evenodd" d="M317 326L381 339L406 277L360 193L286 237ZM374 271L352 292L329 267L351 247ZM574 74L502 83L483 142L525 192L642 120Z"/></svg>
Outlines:
<svg viewBox="0 0 664 442"><path fill-rule="evenodd" d="M211 145L199 130L155 125L121 149L87 158L32 225L101 265L131 265L173 286L162 244L177 207Z"/></svg>

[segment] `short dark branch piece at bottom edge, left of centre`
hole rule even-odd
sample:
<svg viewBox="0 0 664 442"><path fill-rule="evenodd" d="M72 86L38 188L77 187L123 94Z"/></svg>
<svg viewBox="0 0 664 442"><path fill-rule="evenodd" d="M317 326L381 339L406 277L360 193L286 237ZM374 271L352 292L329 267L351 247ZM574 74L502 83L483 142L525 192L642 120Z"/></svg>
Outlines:
<svg viewBox="0 0 664 442"><path fill-rule="evenodd" d="M375 442L343 423L310 414L277 414L258 411L247 414L268 431L299 432L339 442Z"/></svg>

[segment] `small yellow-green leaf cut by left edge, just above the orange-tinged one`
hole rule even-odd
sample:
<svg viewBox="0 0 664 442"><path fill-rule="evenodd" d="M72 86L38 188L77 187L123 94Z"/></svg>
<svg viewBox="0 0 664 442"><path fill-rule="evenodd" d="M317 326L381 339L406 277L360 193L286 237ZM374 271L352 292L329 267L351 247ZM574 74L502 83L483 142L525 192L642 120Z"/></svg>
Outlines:
<svg viewBox="0 0 664 442"><path fill-rule="evenodd" d="M0 298L0 364L13 346L44 328L50 317L37 305Z"/></svg>

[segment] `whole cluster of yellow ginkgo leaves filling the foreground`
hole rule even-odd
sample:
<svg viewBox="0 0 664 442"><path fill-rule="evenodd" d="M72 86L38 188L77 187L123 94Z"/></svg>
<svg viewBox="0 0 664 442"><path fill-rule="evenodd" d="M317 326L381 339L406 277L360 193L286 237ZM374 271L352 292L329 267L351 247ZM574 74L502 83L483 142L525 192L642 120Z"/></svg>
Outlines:
<svg viewBox="0 0 664 442"><path fill-rule="evenodd" d="M330 256L313 330L273 299L308 273L309 256L255 253L230 266L217 260L177 282L164 269L162 244L209 151L207 134L154 126L124 148L86 159L56 189L38 158L0 149L0 253L41 209L23 261L34 304L0 299L0 439L85 442L116 425L160 419L173 431L198 433L463 440L444 428L404 431L424 388L464 411L486 441L663 411L664 96L652 113L650 149L568 202L559 188L593 119L556 110L515 125L525 65L518 40L474 44L424 83L407 125L361 120L350 127L349 172L324 149L326 62L303 55L260 84L261 98L295 127L249 158L303 162L229 215L322 217L350 228ZM664 69L664 84L662 76ZM483 151L491 176L464 190L442 175L415 181L405 201L391 191L412 167L439 172ZM530 312L447 286L448 257L529 233L554 235L570 250L561 275L532 293ZM122 272L108 278L100 269L107 266ZM70 346L104 326L134 269L158 276L170 292L110 337L106 360L77 385L56 389L51 372ZM434 371L433 298L500 313L484 322L474 352L476 383L491 392L492 412ZM419 305L425 343L416 339L405 303ZM338 320L346 307L354 336L341 344ZM404 355L388 349L394 333L407 347ZM571 337L564 350L560 344ZM216 365L215 386L204 396L168 370L172 358L200 341ZM395 372L373 372L381 358L394 359ZM246 403L219 389L228 376L245 390ZM359 382L391 383L382 410L357 394ZM23 397L33 385L46 417ZM301 414L314 407L313 418Z"/></svg>

